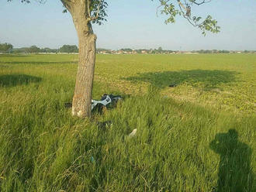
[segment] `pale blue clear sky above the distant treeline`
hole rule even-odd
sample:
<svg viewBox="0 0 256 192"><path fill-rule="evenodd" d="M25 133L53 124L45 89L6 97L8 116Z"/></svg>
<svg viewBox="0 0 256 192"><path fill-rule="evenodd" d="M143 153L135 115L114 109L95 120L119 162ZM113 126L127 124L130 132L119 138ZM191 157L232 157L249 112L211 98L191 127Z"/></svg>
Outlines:
<svg viewBox="0 0 256 192"><path fill-rule="evenodd" d="M1 43L50 48L78 43L71 16L62 13L60 0L48 0L44 5L31 2L26 5L19 0L0 0ZM108 22L94 26L98 47L256 50L256 0L213 0L195 7L199 15L213 15L221 26L220 33L206 37L182 18L165 25L164 17L156 15L156 0L108 2Z"/></svg>

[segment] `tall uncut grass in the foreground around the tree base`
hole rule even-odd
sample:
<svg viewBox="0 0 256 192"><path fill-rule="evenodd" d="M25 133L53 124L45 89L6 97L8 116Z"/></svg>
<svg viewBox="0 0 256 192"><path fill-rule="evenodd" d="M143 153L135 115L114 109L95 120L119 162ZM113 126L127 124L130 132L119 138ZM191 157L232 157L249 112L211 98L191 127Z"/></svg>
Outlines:
<svg viewBox="0 0 256 192"><path fill-rule="evenodd" d="M1 191L256 190L251 112L177 101L156 86L128 95L96 78L94 98L111 92L123 101L74 118L64 108L74 64L1 62Z"/></svg>

